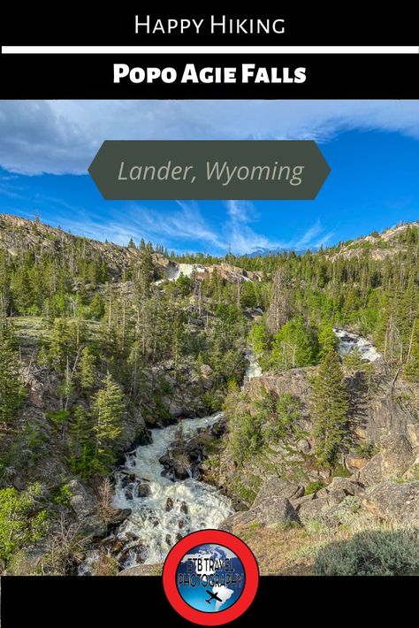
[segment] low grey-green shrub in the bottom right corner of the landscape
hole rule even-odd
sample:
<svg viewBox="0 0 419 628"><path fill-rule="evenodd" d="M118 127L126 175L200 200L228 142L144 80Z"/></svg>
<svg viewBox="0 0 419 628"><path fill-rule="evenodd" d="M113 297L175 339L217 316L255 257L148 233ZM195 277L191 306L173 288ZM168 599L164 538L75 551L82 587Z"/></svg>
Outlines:
<svg viewBox="0 0 419 628"><path fill-rule="evenodd" d="M321 549L316 556L320 576L419 575L416 532L369 530Z"/></svg>

